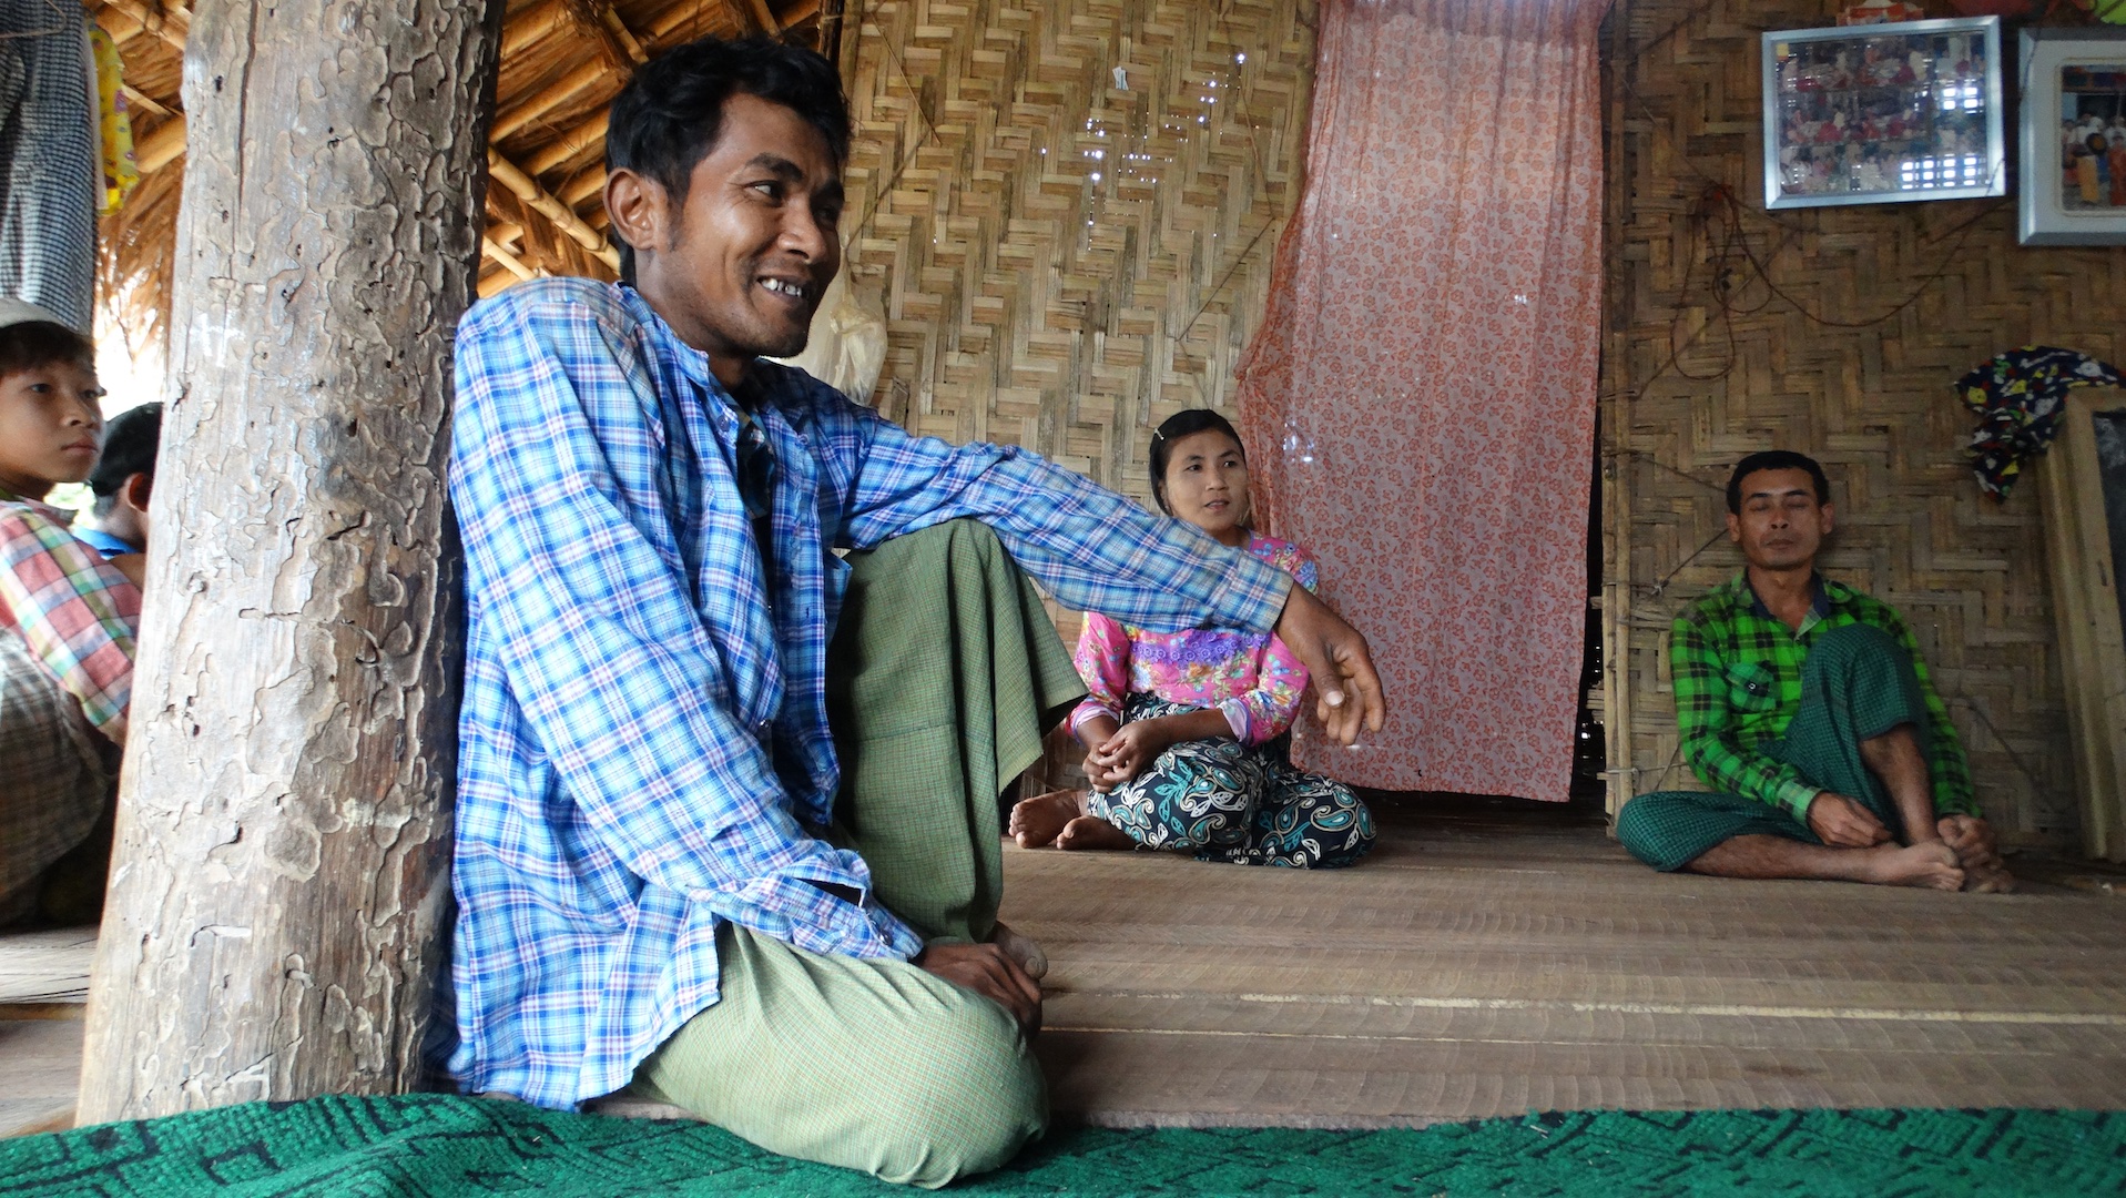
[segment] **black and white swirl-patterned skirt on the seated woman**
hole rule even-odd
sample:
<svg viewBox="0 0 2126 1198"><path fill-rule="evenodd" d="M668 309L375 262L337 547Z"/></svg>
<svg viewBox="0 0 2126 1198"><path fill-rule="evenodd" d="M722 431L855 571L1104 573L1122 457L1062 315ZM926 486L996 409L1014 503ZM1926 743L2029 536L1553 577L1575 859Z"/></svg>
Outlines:
<svg viewBox="0 0 2126 1198"><path fill-rule="evenodd" d="M1146 694L1129 696L1129 719L1193 711ZM1339 781L1299 770L1284 741L1182 741L1142 775L1086 811L1146 849L1193 853L1199 862L1333 870L1373 847L1373 813Z"/></svg>

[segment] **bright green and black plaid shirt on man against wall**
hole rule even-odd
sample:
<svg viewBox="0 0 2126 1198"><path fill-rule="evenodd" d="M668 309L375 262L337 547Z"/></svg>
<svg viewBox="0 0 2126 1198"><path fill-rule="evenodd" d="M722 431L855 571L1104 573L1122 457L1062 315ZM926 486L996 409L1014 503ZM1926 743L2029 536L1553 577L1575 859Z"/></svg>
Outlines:
<svg viewBox="0 0 2126 1198"><path fill-rule="evenodd" d="M1699 779L1720 792L1784 806L1807 821L1809 802L1822 792L1801 770L1758 751L1777 741L1801 706L1801 662L1816 638L1847 623L1873 623L1911 653L1926 696L1928 768L1935 779L1935 811L1977 815L1971 798L1971 766L1962 741L1926 677L1911 626L1894 606L1843 583L1816 577L1816 604L1790 632L1765 611L1750 589L1748 572L1714 587L1675 617L1671 662L1675 672L1675 723L1684 738L1684 760Z"/></svg>

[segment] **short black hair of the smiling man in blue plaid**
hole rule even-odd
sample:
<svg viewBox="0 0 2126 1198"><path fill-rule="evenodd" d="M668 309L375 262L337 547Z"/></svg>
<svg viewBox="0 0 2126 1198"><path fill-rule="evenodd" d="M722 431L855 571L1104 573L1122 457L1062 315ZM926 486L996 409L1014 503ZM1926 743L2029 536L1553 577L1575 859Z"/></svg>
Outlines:
<svg viewBox="0 0 2126 1198"><path fill-rule="evenodd" d="M848 162L842 77L814 51L750 36L697 38L638 66L606 117L606 170L655 179L674 204L685 204L693 168L723 132L723 104L740 94L795 111L827 138L838 168ZM631 281L634 247L614 240L621 279Z"/></svg>

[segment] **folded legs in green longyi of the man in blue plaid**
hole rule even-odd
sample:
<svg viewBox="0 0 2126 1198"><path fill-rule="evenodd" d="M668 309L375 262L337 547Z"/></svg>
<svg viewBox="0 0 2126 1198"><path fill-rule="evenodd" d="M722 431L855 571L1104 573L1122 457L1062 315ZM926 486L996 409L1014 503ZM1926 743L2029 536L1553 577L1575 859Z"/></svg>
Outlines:
<svg viewBox="0 0 2126 1198"><path fill-rule="evenodd" d="M1048 1119L1027 1045L1046 962L997 924L997 796L1084 689L986 526L950 521L850 566L827 670L844 779L829 836L927 949L838 958L725 924L721 1000L636 1070L636 1092L782 1155L935 1187L1001 1166Z"/></svg>

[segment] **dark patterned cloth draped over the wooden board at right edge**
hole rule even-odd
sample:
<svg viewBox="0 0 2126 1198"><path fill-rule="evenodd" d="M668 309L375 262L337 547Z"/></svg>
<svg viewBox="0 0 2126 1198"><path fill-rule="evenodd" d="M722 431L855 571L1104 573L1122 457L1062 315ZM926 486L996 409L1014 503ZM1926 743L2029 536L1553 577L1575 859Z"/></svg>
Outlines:
<svg viewBox="0 0 2126 1198"><path fill-rule="evenodd" d="M2060 404L2073 387L2122 387L2117 366L2109 366L2052 345L2024 345L1996 353L1992 362L1956 381L1964 406L1979 413L1979 428L1964 447L1979 489L2005 500L2028 457L2052 445Z"/></svg>

